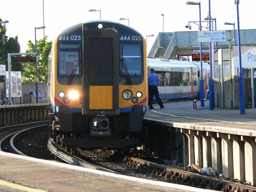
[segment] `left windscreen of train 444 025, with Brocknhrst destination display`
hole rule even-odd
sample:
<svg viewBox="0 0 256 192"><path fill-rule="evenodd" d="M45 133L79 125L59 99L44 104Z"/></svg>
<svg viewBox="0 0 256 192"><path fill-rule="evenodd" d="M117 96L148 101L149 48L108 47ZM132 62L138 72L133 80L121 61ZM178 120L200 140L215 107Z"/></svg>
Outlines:
<svg viewBox="0 0 256 192"><path fill-rule="evenodd" d="M80 44L58 44L58 75L81 74L81 46Z"/></svg>

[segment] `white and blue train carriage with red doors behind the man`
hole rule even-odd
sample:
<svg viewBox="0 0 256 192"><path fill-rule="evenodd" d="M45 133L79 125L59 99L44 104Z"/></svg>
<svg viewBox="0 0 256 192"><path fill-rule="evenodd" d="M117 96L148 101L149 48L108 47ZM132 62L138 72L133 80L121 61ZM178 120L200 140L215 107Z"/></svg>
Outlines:
<svg viewBox="0 0 256 192"><path fill-rule="evenodd" d="M204 91L209 88L210 66L202 63ZM159 97L162 102L188 101L200 97L201 63L190 61L147 58L147 71L155 70ZM156 102L156 98L153 98Z"/></svg>

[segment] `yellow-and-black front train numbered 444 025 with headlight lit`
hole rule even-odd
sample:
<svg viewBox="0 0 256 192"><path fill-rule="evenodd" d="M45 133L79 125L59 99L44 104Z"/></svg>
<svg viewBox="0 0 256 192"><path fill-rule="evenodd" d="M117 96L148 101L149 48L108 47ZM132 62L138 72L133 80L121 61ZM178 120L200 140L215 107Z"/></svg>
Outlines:
<svg viewBox="0 0 256 192"><path fill-rule="evenodd" d="M63 30L49 56L52 141L60 148L142 144L146 42L138 31L94 20Z"/></svg>

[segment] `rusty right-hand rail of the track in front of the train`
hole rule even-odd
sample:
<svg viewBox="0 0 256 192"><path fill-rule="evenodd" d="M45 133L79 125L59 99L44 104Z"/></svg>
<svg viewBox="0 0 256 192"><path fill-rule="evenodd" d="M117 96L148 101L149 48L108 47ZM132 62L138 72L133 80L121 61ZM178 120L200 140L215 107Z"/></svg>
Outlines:
<svg viewBox="0 0 256 192"><path fill-rule="evenodd" d="M125 157L124 163L133 167L142 174L155 175L166 179L173 179L180 184L190 185L198 188L214 189L221 191L253 192L256 187L229 182L221 179L211 178L204 175L187 172L168 166L159 165L150 161L135 157Z"/></svg>

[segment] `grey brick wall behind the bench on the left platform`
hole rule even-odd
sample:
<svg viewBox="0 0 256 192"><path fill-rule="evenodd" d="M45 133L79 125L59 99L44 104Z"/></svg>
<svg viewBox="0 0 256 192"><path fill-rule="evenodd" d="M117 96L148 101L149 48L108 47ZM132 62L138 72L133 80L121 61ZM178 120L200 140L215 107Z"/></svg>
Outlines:
<svg viewBox="0 0 256 192"><path fill-rule="evenodd" d="M0 83L1 85L1 93L4 93L4 83ZM22 97L21 102L22 104L36 103L36 99L33 95L29 95L30 92L36 92L36 83L22 83ZM47 83L38 83L38 90L41 92L42 97L47 97ZM19 97L12 97L13 104L20 104ZM39 98L39 103L41 103L41 99ZM46 99L42 100L42 103L48 103Z"/></svg>

